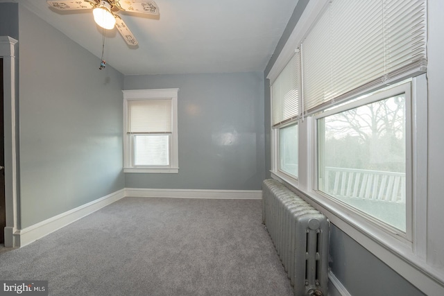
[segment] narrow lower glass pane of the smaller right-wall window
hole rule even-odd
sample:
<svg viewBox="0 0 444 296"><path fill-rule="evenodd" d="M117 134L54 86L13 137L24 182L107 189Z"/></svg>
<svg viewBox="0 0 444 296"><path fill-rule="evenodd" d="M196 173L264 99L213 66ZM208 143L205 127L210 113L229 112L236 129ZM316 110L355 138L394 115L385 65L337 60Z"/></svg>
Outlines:
<svg viewBox="0 0 444 296"><path fill-rule="evenodd" d="M298 125L279 130L280 170L298 177Z"/></svg>

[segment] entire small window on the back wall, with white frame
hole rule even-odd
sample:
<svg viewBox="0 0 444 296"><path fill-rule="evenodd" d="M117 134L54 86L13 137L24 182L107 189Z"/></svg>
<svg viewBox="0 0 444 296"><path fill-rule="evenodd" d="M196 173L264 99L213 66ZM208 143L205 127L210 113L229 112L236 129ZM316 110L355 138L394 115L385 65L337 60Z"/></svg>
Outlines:
<svg viewBox="0 0 444 296"><path fill-rule="evenodd" d="M178 173L178 89L123 91L125 173Z"/></svg>

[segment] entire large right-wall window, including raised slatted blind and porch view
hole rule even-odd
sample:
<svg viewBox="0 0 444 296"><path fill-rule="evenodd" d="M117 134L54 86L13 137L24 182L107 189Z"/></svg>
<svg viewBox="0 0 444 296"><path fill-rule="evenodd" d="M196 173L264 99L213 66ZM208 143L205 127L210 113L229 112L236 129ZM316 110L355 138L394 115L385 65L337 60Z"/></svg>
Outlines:
<svg viewBox="0 0 444 296"><path fill-rule="evenodd" d="M300 45L303 113L321 114L311 188L408 241L411 85L387 85L425 73L425 11L422 0L330 1Z"/></svg>

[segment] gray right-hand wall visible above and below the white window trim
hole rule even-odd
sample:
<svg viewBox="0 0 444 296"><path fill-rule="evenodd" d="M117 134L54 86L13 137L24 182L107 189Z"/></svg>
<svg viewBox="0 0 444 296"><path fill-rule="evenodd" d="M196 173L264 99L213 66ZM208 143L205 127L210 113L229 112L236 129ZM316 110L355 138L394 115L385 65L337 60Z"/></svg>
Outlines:
<svg viewBox="0 0 444 296"><path fill-rule="evenodd" d="M264 71L264 78L273 67L276 58L287 42L291 31L296 26L302 11L307 6L308 1L299 1L291 19L281 37L278 46L273 53ZM270 155L270 92L269 81L264 79L265 96L265 122L266 122L266 171L271 169ZM442 101L442 100L441 100ZM441 109L442 110L442 109ZM368 252L341 229L332 225L330 234L330 268L339 281L348 289L351 295L423 295L420 290L414 287L409 281L398 275L397 272L388 267L376 256Z"/></svg>

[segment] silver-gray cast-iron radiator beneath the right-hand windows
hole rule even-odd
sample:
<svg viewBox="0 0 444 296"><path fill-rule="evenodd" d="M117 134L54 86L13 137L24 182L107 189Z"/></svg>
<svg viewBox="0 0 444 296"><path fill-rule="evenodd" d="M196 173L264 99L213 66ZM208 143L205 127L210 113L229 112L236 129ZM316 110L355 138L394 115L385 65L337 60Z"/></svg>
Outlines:
<svg viewBox="0 0 444 296"><path fill-rule="evenodd" d="M330 222L276 180L262 183L262 220L295 296L327 296Z"/></svg>

